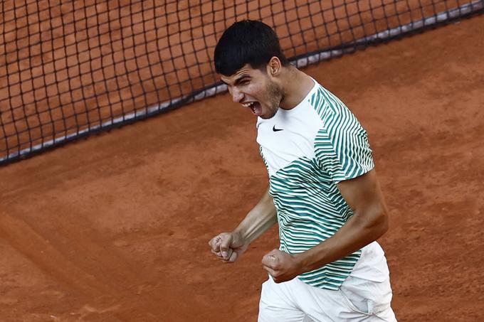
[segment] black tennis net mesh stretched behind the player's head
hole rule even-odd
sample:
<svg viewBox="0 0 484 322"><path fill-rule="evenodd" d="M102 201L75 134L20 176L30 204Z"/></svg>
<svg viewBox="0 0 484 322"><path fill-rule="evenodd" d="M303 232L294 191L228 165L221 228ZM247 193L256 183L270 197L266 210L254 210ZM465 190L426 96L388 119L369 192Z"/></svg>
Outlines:
<svg viewBox="0 0 484 322"><path fill-rule="evenodd" d="M483 12L484 0L0 2L0 164L226 90L216 40L273 26L298 67Z"/></svg>

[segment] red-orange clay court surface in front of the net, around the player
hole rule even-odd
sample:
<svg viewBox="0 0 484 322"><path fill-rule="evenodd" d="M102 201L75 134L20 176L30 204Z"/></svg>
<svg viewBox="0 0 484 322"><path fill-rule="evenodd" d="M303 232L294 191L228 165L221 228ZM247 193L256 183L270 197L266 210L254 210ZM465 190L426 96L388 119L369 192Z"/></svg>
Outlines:
<svg viewBox="0 0 484 322"><path fill-rule="evenodd" d="M399 321L484 321L484 18L312 65L369 133ZM121 106L121 105L120 105ZM268 183L228 95L0 168L1 321L256 321L263 254L207 242Z"/></svg>

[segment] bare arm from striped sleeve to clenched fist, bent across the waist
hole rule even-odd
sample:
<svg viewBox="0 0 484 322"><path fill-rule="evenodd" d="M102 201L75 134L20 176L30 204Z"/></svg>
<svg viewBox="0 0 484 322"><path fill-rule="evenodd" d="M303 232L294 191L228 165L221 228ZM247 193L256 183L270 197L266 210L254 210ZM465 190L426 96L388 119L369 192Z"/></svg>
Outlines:
<svg viewBox="0 0 484 322"><path fill-rule="evenodd" d="M335 235L306 252L290 255L274 249L266 254L263 266L275 281L288 281L341 259L377 240L388 230L386 205L374 170L342 181L337 187L353 210L352 218Z"/></svg>

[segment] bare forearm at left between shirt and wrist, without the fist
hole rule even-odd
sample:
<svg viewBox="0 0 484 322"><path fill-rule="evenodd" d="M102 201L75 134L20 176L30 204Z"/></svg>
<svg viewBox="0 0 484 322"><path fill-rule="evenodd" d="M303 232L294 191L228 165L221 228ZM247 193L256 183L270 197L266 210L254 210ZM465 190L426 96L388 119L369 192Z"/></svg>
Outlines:
<svg viewBox="0 0 484 322"><path fill-rule="evenodd" d="M273 198L268 190L257 205L248 212L246 218L236 227L234 232L249 244L256 240L266 230L277 222L277 213Z"/></svg>

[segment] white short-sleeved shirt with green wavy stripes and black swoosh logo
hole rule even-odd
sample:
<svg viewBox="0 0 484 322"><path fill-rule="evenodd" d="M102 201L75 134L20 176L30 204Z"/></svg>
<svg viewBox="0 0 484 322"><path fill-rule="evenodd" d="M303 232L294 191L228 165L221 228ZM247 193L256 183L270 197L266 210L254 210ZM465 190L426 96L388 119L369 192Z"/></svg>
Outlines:
<svg viewBox="0 0 484 322"><path fill-rule="evenodd" d="M319 84L293 109L259 118L257 129L278 212L280 250L304 252L334 235L352 216L336 184L374 167L367 132ZM339 289L361 254L360 249L298 278L311 286Z"/></svg>

